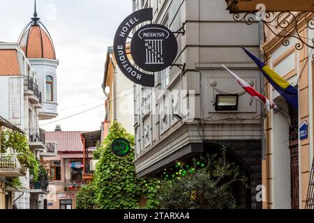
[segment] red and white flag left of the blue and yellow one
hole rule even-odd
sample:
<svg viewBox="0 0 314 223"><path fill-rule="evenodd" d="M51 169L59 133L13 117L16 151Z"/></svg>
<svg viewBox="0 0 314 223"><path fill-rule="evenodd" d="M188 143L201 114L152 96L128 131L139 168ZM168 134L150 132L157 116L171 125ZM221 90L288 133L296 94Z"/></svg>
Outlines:
<svg viewBox="0 0 314 223"><path fill-rule="evenodd" d="M252 86L250 86L250 84L246 83L244 79L241 79L238 75L236 75L234 72L226 68L224 65L223 65L223 68L225 68L225 70L230 72L230 74L237 80L237 82L241 85L241 87L247 93L249 93L256 100L263 102L265 104L267 111L270 111L271 109L278 109L278 107L273 102L268 100L268 98L266 98L264 95L261 95L260 93L258 93Z"/></svg>

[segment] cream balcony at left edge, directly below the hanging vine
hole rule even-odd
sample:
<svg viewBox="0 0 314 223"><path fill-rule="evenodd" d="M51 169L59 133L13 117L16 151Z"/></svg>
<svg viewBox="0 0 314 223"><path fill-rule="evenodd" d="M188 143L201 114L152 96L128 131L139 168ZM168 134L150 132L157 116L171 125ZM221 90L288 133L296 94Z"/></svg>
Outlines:
<svg viewBox="0 0 314 223"><path fill-rule="evenodd" d="M19 162L19 153L0 153L0 176L25 176L26 169Z"/></svg>

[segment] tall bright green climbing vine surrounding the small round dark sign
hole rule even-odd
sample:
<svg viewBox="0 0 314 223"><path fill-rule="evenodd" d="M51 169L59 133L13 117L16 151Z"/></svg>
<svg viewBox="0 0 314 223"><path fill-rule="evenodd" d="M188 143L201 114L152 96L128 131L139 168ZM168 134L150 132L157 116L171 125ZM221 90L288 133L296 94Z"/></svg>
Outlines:
<svg viewBox="0 0 314 223"><path fill-rule="evenodd" d="M130 142L132 149L125 157L117 157L111 151L111 144L117 138ZM103 146L98 147L94 153L94 158L99 159L94 180L78 193L77 208L128 209L158 206L155 194L159 181L137 178L133 147L134 136L114 121Z"/></svg>

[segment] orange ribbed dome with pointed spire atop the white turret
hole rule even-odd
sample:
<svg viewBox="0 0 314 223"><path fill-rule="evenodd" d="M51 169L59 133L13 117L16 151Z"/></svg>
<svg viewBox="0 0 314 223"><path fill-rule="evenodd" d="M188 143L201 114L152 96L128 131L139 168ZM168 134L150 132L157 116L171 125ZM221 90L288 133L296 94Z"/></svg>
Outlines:
<svg viewBox="0 0 314 223"><path fill-rule="evenodd" d="M19 43L29 59L56 59L52 38L36 12L36 0L33 17L22 31Z"/></svg>

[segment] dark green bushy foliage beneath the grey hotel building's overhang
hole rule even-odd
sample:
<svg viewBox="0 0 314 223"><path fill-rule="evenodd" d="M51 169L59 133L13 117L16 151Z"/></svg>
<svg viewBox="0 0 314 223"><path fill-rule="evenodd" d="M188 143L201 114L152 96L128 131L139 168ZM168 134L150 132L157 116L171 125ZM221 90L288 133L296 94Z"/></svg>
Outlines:
<svg viewBox="0 0 314 223"><path fill-rule="evenodd" d="M206 160L206 162L204 162ZM203 164L206 163L204 166ZM198 166L198 167L197 167ZM192 166L178 162L172 178L165 172L164 181L156 194L159 208L165 209L223 209L238 208L230 192L230 185L246 178L239 174L234 164L222 157L208 155L202 162L195 160Z"/></svg>

